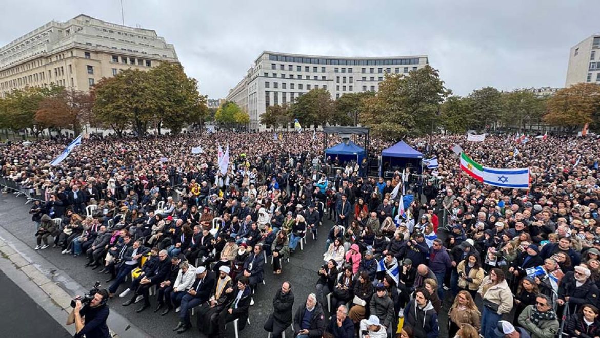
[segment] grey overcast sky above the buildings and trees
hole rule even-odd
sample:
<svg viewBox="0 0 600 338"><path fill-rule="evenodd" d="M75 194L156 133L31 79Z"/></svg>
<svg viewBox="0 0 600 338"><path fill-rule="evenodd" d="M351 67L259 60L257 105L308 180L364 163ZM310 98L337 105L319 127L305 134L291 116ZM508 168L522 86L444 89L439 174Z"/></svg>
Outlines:
<svg viewBox="0 0 600 338"><path fill-rule="evenodd" d="M263 50L428 55L458 95L565 83L569 48L600 32L598 1L124 0L125 25L175 45L188 76L224 98ZM4 1L0 45L78 14L121 23L119 0Z"/></svg>

